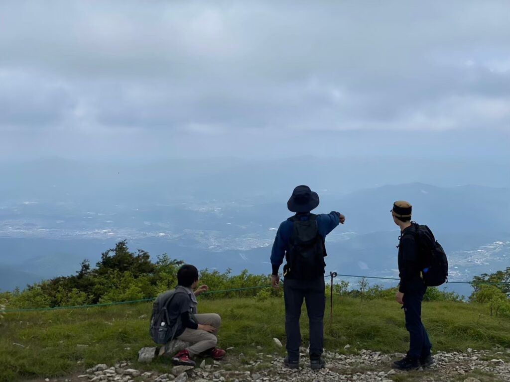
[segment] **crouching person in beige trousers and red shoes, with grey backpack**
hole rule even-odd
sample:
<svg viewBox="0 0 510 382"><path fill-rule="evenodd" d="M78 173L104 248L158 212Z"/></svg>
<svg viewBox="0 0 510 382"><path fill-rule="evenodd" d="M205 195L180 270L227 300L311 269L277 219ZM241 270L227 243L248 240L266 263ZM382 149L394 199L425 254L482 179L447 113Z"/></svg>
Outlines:
<svg viewBox="0 0 510 382"><path fill-rule="evenodd" d="M165 313L160 320L159 331L163 328L168 333L166 340L179 339L191 342L192 345L179 351L172 358L176 365L195 366L192 360L195 356L212 357L221 360L225 356L225 350L218 349L218 330L221 325L221 317L218 314L197 314L196 296L209 290L207 285L198 286L198 270L193 265L183 265L177 271L177 287L174 290L160 294L155 301L154 310L166 307ZM194 291L193 291L194 290ZM159 308L161 307L161 308ZM151 330L155 326L155 314L153 311ZM169 331L169 332L167 332ZM152 333L151 333L152 335ZM154 338L154 335L152 335Z"/></svg>

